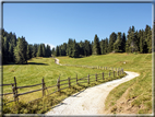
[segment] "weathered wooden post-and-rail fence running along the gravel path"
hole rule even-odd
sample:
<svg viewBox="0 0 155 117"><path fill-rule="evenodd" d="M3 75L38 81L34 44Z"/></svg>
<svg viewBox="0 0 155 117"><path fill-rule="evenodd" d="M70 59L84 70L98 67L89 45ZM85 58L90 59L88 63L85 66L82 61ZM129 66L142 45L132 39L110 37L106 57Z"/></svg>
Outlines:
<svg viewBox="0 0 155 117"><path fill-rule="evenodd" d="M71 65L63 65L63 66L71 66ZM0 85L0 86L9 86L9 85L11 85L12 86L12 93L3 93L3 94L0 94L0 96L13 94L13 98L14 100L9 101L5 104L11 103L11 102L19 103L19 96L41 91L43 92L43 96L40 98L43 98L44 96L49 96L49 95L51 95L51 94L53 94L56 92L60 92L61 90L71 87L71 85L76 85L76 84L86 83L86 82L87 82L87 84L90 84L92 81L97 81L99 79L106 80L105 74L108 78L111 78L111 80L112 80L112 78L118 77L118 75L123 73L123 69L122 68L121 69L118 69L118 68L115 69L115 68L111 68L111 67L88 67L88 66L76 66L76 67L86 67L86 68L93 68L93 69L97 68L97 69L112 70L112 71L109 71L108 73L104 73L103 72L103 73L98 73L98 74L97 73L96 74L87 74L87 77L80 78L80 79L78 78L78 74L75 75L75 78L69 77L65 80L60 80L60 77L59 77L58 80L57 80L57 84L56 85L51 85L51 86L46 86L44 78L41 79L41 83L39 83L39 84L17 86L16 79L14 77L14 83L1 84ZM83 82L81 82L81 81L83 81ZM33 87L33 86L37 86L37 85L40 85L41 87L38 89L38 90L25 92L25 93L17 93L19 89ZM68 85L68 86L62 87L62 85ZM57 90L55 92L48 93L46 95L46 90L49 89L49 87L56 87ZM36 100L40 100L40 98L36 98ZM36 101L36 100L33 100L33 101ZM33 102L33 101L31 101L31 102Z"/></svg>

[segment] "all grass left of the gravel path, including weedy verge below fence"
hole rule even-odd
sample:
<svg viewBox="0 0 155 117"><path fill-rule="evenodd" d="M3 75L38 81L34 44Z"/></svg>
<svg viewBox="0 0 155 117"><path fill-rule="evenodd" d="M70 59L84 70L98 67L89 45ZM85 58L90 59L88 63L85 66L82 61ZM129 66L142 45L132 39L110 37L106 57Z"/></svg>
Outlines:
<svg viewBox="0 0 155 117"><path fill-rule="evenodd" d="M60 103L63 98L70 96L73 93L80 92L81 90L84 90L88 86L94 86L114 79L120 79L121 77L126 75L122 74L120 77L109 78L108 73L110 70L103 70L103 69L92 69L92 68L80 68L80 67L67 67L67 66L59 66L55 63L53 58L33 58L28 61L28 65L4 65L3 66L3 84L13 83L14 79L16 78L17 86L24 86L24 85L33 85L41 83L41 79L44 77L46 86L51 86L57 84L57 79L60 75L60 80L68 79L69 77L75 78L78 74L78 78L81 79L83 77L87 77L87 74L91 74L90 77L90 84L87 84L87 79L83 80L85 83L80 83L76 85L76 83L71 83L71 89L62 90L60 93L51 94L50 96L44 97L44 100L38 100L36 102L32 102L31 104L27 104L27 102L36 100L41 97L41 91L25 94L20 96L20 103L14 104L9 103L3 106L3 113L4 114L44 114L47 110L51 108L51 106ZM98 75L97 82L95 81L95 73L103 73L105 80L102 79L102 74ZM111 74L112 75L112 74ZM73 80L71 80L72 82ZM74 79L75 81L75 79ZM81 82L83 82L81 81ZM64 81L63 83L67 83ZM68 84L61 86L65 87ZM35 86L35 87L26 87L26 89L20 89L17 90L17 93L24 93L27 91L38 90L41 89L41 85ZM51 87L46 90L46 94L56 91L57 87ZM3 86L3 93L11 93L12 89L10 86ZM3 102L12 101L13 95L4 96Z"/></svg>

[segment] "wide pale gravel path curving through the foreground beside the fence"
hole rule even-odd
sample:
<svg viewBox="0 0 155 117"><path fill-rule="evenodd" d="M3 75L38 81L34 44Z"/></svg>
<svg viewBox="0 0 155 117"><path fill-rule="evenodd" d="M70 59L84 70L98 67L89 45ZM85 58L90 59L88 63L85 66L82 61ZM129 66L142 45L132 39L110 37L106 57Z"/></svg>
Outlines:
<svg viewBox="0 0 155 117"><path fill-rule="evenodd" d="M105 100L109 92L119 84L139 77L139 73L124 71L122 79L109 81L69 96L46 115L98 115L105 109Z"/></svg>

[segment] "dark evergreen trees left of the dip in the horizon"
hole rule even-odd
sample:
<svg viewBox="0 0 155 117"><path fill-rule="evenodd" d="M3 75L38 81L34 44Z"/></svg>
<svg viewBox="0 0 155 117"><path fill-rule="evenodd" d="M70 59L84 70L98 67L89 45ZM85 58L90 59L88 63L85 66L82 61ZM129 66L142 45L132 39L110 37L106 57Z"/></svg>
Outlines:
<svg viewBox="0 0 155 117"><path fill-rule="evenodd" d="M2 63L27 63L33 57L51 57L49 45L28 44L25 37L1 30Z"/></svg>

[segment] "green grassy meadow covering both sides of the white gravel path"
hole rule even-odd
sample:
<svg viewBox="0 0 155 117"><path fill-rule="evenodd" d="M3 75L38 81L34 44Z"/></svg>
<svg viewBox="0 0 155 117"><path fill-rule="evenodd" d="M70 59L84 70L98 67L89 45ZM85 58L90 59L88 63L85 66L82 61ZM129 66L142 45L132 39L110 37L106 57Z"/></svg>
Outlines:
<svg viewBox="0 0 155 117"><path fill-rule="evenodd" d="M85 65L85 66L102 66L123 68L124 71L134 71L140 73L140 77L120 84L114 89L106 100L107 114L151 114L152 113L152 54L108 54L100 56L91 56L85 58L69 58L58 57L60 63L67 65ZM126 62L126 63L124 63ZM90 69L80 67L67 67L55 63L53 58L33 58L28 61L28 65L4 65L3 66L3 83L13 83L13 77L16 77L17 86L33 85L41 82L44 77L46 86L57 84L57 79L60 75L60 80L68 79L68 77L75 78L78 73L79 78L87 77L87 74L95 74L102 72L108 73L109 70ZM94 78L93 78L94 79ZM108 80L107 80L108 81ZM105 81L104 81L105 82ZM93 86L103 83L103 81L92 82L91 84L75 85L71 89L67 89L60 93L53 94L52 98L46 100L46 108L44 104L37 103L33 105L22 105L21 112L19 109L4 108L5 113L14 114L44 114L51 108L51 105L56 105L64 97L79 92L87 86ZM40 89L41 85L35 87L27 87L19 90L19 93ZM56 89L49 89L47 93L53 92ZM4 86L3 93L12 92L11 86ZM103 92L104 93L104 92ZM27 102L38 97L41 97L41 92L26 94L20 96L20 101ZM8 96L7 98L11 98ZM13 100L13 98L12 98ZM102 102L100 102L102 103ZM12 104L10 104L11 106ZM23 110L23 106L26 108ZM20 108L19 107L19 108Z"/></svg>

